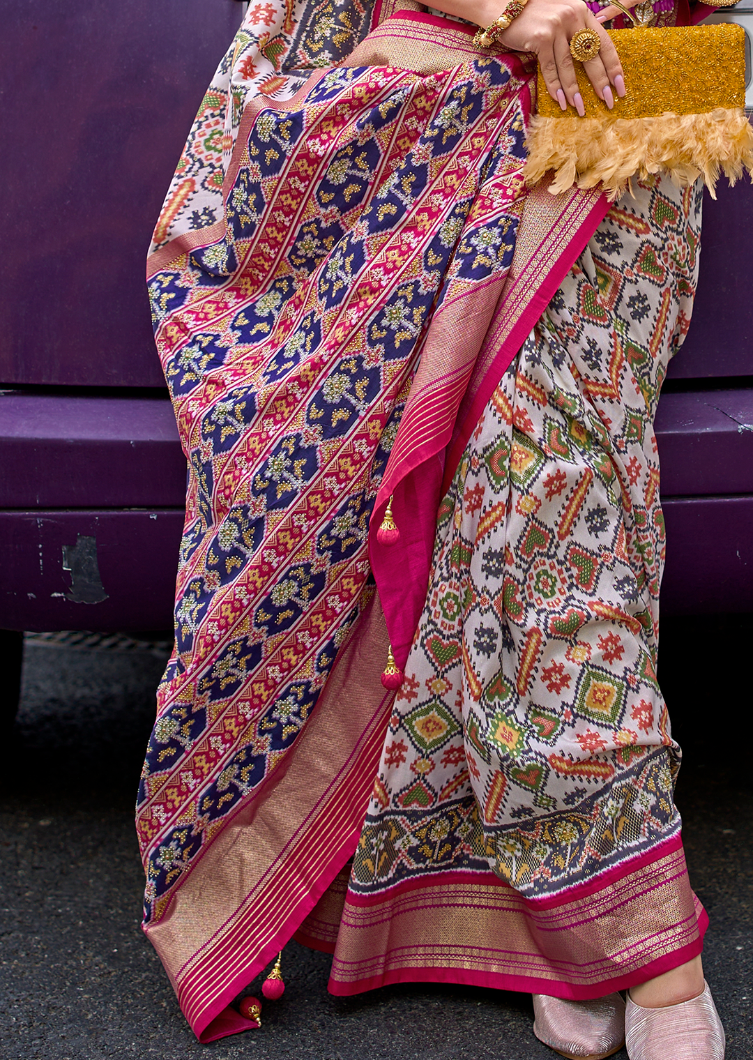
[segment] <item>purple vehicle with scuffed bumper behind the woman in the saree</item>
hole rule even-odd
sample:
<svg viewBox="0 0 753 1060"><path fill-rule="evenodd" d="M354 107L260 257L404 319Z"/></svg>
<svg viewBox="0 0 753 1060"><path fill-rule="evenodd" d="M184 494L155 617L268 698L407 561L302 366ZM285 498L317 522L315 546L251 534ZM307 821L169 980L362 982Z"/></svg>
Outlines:
<svg viewBox="0 0 753 1060"><path fill-rule="evenodd" d="M185 460L144 257L240 14L237 0L50 0L42 18L3 2L6 673L20 672L23 630L172 626ZM704 217L693 325L657 418L664 614L753 610L753 189L720 184ZM7 719L14 689L2 694Z"/></svg>

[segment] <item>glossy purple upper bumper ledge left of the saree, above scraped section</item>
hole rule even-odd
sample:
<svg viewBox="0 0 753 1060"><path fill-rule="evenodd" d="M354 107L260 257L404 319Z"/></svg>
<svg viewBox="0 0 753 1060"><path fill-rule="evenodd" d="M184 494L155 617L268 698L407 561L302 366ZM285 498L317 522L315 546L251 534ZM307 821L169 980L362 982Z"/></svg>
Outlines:
<svg viewBox="0 0 753 1060"><path fill-rule="evenodd" d="M0 508L182 508L166 399L0 395Z"/></svg>

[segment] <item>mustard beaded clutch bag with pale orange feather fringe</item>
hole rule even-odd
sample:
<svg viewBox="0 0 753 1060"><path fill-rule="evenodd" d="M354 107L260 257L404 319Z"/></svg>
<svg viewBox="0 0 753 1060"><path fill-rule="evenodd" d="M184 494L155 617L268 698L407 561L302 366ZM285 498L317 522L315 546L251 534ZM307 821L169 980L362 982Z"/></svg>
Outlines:
<svg viewBox="0 0 753 1060"><path fill-rule="evenodd" d="M734 182L753 172L753 129L745 112L745 31L740 25L610 30L625 71L614 109L575 64L586 108L562 111L538 75L538 113L527 135L526 181L554 170L553 195L602 182L610 199L630 177L666 172L679 184L702 176L712 194L719 174Z"/></svg>

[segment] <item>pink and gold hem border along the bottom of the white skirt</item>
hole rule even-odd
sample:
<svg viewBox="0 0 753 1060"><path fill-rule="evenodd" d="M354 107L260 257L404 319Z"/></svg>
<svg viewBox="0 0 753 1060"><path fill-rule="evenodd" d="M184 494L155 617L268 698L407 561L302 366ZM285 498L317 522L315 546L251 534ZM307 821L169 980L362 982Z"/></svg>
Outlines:
<svg viewBox="0 0 753 1060"><path fill-rule="evenodd" d="M707 916L679 836L589 890L526 900L491 873L459 870L376 896L351 891L329 990L462 983L585 1001L701 952Z"/></svg>

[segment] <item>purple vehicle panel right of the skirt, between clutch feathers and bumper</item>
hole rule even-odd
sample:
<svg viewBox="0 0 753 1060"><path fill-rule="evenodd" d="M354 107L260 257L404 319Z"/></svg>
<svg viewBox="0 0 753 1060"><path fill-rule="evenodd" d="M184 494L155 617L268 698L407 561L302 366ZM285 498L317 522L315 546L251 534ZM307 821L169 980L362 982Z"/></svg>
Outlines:
<svg viewBox="0 0 753 1060"><path fill-rule="evenodd" d="M753 375L753 186L722 177L716 192L703 197L698 293L674 378Z"/></svg>

